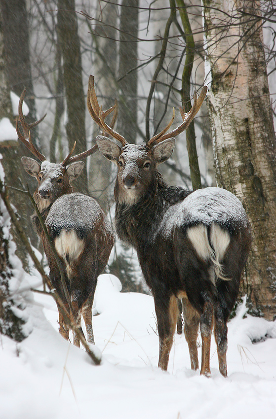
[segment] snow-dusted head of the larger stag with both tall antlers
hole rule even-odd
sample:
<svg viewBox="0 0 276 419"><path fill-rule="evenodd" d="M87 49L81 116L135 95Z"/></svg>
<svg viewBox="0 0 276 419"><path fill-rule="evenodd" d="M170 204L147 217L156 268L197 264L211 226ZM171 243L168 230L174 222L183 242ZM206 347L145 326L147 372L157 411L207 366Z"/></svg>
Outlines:
<svg viewBox="0 0 276 419"><path fill-rule="evenodd" d="M115 197L120 202L134 204L139 197L147 193L149 184L154 179L157 166L165 162L173 152L175 146L174 137L188 128L200 109L206 93L207 87L204 86L198 98L197 93L194 94L194 105L189 112L184 113L184 110L180 107L182 123L173 131L167 132L174 120L174 110L169 124L159 134L148 140L145 145L129 144L105 123L105 117L116 105L111 107L109 111L102 111L95 93L94 77L90 75L87 94L89 112L94 121L121 144L119 146L115 141L104 136L96 138L99 150L103 156L115 162L118 166Z"/></svg>

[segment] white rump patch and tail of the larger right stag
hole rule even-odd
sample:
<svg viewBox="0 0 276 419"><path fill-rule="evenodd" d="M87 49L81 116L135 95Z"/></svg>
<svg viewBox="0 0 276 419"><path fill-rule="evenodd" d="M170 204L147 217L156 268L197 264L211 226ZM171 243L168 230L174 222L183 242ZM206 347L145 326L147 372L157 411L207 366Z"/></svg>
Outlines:
<svg viewBox="0 0 276 419"><path fill-rule="evenodd" d="M223 230L218 224L211 224L209 242L207 228L203 224L199 224L189 228L187 230L187 236L198 256L201 259L210 259L213 262L216 277L223 280L230 280L230 278L224 276L223 267L220 263L230 243L228 231ZM211 275L211 273L210 279L213 283L215 282L214 275Z"/></svg>

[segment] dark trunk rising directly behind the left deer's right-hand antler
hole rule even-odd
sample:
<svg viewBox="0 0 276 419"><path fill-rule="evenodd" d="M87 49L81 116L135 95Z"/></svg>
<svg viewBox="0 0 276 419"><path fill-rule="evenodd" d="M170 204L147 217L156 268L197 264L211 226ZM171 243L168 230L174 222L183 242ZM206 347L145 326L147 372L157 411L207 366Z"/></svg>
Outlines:
<svg viewBox="0 0 276 419"><path fill-rule="evenodd" d="M63 56L63 81L66 92L68 122L66 133L71 149L77 141L75 153L86 150L85 101L75 0L58 0L57 31ZM75 181L79 192L88 193L86 162L81 176Z"/></svg>

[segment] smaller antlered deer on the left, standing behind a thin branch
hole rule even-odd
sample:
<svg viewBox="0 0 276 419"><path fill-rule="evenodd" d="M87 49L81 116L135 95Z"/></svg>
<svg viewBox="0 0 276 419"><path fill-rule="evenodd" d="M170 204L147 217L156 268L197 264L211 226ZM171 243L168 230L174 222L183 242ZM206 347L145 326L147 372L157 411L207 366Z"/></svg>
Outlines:
<svg viewBox="0 0 276 419"><path fill-rule="evenodd" d="M25 90L20 97L18 114L23 130L16 130L19 140L28 147L39 160L22 157L26 172L38 181L34 200L48 230L50 238L60 258L61 269L66 282L63 287L60 267L35 213L32 223L42 241L49 264L49 278L65 307L72 313L73 320L82 332L81 314L86 326L87 340L94 343L92 328L92 304L98 276L103 272L114 244L114 234L110 222L97 202L89 196L73 193L71 182L82 172L84 163L80 161L93 154L98 146L72 157L75 145L62 163L50 163L39 152L31 139L34 124L27 124L22 112ZM69 339L69 326L59 309L59 331ZM74 334L74 344L79 339Z"/></svg>

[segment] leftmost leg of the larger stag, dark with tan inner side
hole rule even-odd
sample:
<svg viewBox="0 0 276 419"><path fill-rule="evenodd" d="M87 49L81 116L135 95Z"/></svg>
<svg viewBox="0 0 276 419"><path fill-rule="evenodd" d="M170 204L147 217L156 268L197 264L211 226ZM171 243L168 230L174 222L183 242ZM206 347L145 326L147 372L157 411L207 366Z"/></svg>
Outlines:
<svg viewBox="0 0 276 419"><path fill-rule="evenodd" d="M166 371L168 368L169 354L173 344L173 336L179 315L177 299L174 295L168 301L155 299L157 327L159 335L159 361L158 367Z"/></svg>

